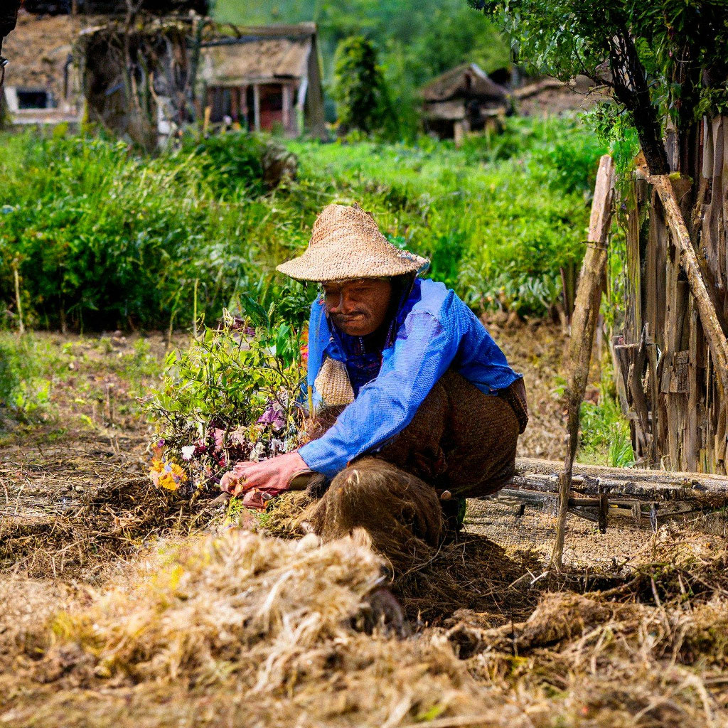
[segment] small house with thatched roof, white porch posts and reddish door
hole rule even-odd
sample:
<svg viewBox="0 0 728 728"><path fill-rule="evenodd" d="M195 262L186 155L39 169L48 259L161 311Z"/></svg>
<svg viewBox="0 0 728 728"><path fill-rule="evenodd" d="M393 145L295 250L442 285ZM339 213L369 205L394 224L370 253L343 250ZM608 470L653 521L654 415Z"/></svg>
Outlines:
<svg viewBox="0 0 728 728"><path fill-rule="evenodd" d="M235 28L205 39L199 78L210 121L325 138L316 25Z"/></svg>

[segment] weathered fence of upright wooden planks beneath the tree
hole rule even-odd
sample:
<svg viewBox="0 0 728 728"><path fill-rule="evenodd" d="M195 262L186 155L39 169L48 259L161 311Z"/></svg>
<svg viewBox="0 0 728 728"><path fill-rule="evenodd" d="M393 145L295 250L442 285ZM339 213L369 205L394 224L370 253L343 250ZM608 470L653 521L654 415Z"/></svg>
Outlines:
<svg viewBox="0 0 728 728"><path fill-rule="evenodd" d="M673 188L725 332L728 116L706 120L700 136L695 182L677 178ZM612 352L617 392L630 417L636 454L648 467L725 473L727 395L716 376L660 197L638 170L622 202L627 216L625 319Z"/></svg>

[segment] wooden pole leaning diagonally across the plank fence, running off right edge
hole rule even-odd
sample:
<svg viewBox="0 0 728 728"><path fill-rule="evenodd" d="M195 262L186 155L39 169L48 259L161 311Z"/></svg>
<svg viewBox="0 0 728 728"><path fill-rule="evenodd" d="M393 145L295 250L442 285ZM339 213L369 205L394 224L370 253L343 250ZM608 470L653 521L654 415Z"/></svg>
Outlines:
<svg viewBox="0 0 728 728"><path fill-rule="evenodd" d="M680 264L687 276L690 291L695 300L697 314L700 317L700 324L703 326L705 340L711 349L711 356L716 365L716 372L719 376L721 393L728 395L728 340L716 315L716 308L711 298L708 286L705 285L703 272L700 269L700 262L695 254L690 234L685 224L680 205L675 196L673 184L669 175L653 175L647 178L649 183L654 185L657 194L660 195L660 202L665 208L665 220L668 223L673 240L680 251Z"/></svg>

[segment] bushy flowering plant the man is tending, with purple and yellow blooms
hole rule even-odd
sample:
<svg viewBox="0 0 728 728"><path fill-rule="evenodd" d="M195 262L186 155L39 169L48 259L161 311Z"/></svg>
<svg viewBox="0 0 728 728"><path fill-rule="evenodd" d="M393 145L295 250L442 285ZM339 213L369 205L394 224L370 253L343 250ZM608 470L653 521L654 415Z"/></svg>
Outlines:
<svg viewBox="0 0 728 728"><path fill-rule="evenodd" d="M157 424L154 486L184 495L213 490L236 462L296 449L304 367L301 335L290 324L227 311L186 351L171 352L161 387L145 402Z"/></svg>

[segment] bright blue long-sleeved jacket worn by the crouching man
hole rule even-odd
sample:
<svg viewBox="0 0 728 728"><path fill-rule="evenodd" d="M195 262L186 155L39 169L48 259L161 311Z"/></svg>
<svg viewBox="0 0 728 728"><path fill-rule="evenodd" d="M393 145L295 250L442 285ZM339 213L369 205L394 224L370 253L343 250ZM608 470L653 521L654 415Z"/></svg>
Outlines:
<svg viewBox="0 0 728 728"><path fill-rule="evenodd" d="M470 308L442 283L417 279L408 307L394 345L381 352L379 374L360 388L323 437L298 451L311 470L333 478L355 457L381 448L407 427L448 368L486 394L505 389L522 376L510 368ZM337 338L319 297L309 321L308 384L314 388L314 402L320 402L314 380L324 358L346 363Z"/></svg>

